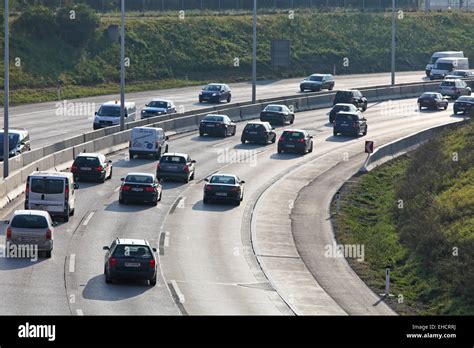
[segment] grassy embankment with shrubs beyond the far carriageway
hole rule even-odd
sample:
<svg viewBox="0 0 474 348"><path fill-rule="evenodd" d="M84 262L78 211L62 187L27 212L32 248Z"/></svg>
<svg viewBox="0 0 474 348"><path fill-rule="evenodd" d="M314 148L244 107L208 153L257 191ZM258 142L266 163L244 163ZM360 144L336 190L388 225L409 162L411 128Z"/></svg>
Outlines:
<svg viewBox="0 0 474 348"><path fill-rule="evenodd" d="M119 91L119 43L110 39L107 28L118 25L120 19L97 17L87 9L81 11L70 20L67 8L52 13L33 7L12 18L13 104L55 100L58 81L61 98ZM294 19L287 13L260 14L257 30L259 78L332 72L334 65L338 74L390 70L389 13L297 9ZM397 30L398 70L423 70L431 53L437 50L464 50L474 60L474 17L470 14L406 13ZM176 13L129 18L127 92L211 80L248 80L251 33L248 13L210 13L186 16L184 20ZM272 69L272 39L291 41L289 69ZM343 66L344 57L349 58L348 67ZM234 66L235 58L239 60L238 67Z"/></svg>

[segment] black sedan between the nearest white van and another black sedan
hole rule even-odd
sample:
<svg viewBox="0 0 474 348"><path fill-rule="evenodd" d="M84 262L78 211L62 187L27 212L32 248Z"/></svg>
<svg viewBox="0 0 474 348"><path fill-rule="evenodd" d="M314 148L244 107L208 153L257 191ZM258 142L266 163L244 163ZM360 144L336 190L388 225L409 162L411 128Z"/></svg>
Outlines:
<svg viewBox="0 0 474 348"><path fill-rule="evenodd" d="M119 204L130 201L152 203L157 205L161 201L162 187L155 175L147 173L129 173L120 179Z"/></svg>

